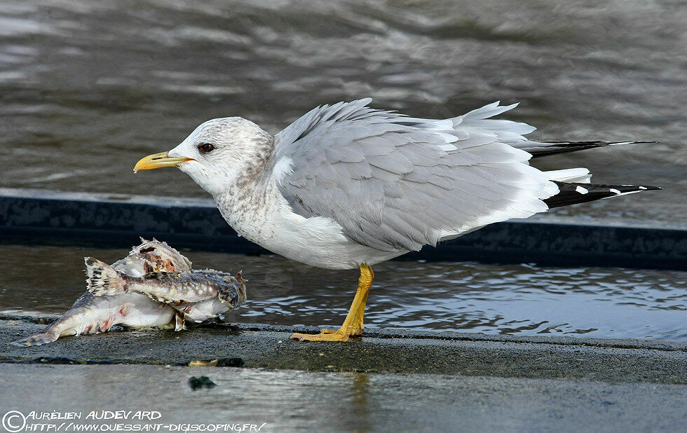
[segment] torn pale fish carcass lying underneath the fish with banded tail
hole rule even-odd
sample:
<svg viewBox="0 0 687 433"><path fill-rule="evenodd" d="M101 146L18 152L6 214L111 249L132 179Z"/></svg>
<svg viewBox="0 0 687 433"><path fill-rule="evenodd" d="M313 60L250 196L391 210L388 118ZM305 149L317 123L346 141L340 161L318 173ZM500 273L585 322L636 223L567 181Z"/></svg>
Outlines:
<svg viewBox="0 0 687 433"><path fill-rule="evenodd" d="M141 241L142 244L133 247L124 259L113 263L112 268L134 277L141 277L149 272L191 270L191 261L167 243L143 238ZM90 291L86 291L62 318L48 325L41 333L13 341L11 344L41 345L56 341L61 336L108 331L116 324L129 328L182 329L182 314L172 305L158 303L142 294L93 296Z"/></svg>

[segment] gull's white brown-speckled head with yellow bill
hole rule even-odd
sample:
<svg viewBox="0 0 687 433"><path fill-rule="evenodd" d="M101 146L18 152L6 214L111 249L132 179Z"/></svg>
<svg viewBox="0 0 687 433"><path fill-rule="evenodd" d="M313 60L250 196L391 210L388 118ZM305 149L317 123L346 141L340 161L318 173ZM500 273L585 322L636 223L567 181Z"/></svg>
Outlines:
<svg viewBox="0 0 687 433"><path fill-rule="evenodd" d="M259 177L273 150L273 138L240 117L216 118L191 132L174 149L142 158L137 170L179 167L201 188L219 195L240 179Z"/></svg>

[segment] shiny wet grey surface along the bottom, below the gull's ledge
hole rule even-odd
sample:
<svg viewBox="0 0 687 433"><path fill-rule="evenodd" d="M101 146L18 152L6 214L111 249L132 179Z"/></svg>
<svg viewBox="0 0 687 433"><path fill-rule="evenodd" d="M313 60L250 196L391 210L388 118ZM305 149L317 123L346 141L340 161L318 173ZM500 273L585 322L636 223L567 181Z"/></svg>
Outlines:
<svg viewBox="0 0 687 433"><path fill-rule="evenodd" d="M217 386L191 390L201 375ZM84 418L158 411L162 425L266 422L261 432L680 432L687 421L682 385L431 374L0 364L0 395L0 416L70 411L78 424L145 425Z"/></svg>

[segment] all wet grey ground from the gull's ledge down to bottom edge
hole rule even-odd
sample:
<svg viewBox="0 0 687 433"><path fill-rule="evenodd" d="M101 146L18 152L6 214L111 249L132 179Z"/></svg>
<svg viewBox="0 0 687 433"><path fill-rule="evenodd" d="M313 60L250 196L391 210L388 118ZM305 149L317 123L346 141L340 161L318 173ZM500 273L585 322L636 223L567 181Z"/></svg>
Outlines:
<svg viewBox="0 0 687 433"><path fill-rule="evenodd" d="M36 321L0 320L0 413L155 411L69 422L159 431L660 432L686 421L686 343L417 331L300 343L290 332L313 329L237 325L6 345ZM186 366L213 359L224 366ZM203 376L215 385L193 390Z"/></svg>

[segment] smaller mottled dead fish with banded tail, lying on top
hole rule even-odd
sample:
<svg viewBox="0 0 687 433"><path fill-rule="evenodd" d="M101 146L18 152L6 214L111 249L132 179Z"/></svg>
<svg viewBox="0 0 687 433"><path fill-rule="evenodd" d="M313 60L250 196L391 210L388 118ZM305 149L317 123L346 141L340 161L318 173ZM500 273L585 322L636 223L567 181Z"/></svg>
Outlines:
<svg viewBox="0 0 687 433"><path fill-rule="evenodd" d="M241 273L233 277L219 270L205 269L150 272L142 277L132 277L93 257L87 257L85 263L88 291L95 296L138 293L182 309L218 299L226 304L225 311L237 308L246 300L245 280Z"/></svg>

